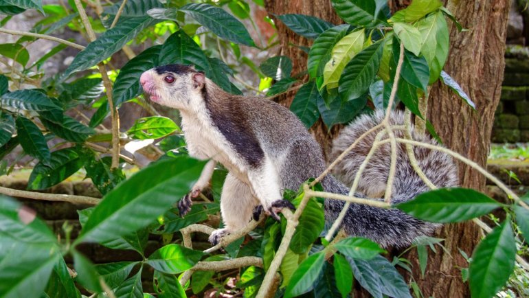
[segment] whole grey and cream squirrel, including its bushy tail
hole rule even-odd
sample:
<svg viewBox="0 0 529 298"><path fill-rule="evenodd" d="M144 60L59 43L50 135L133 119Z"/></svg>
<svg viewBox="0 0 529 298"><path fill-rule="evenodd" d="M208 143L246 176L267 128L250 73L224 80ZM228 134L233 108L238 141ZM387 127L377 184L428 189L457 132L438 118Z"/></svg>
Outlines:
<svg viewBox="0 0 529 298"><path fill-rule="evenodd" d="M164 81L168 74L175 76L175 82ZM319 144L284 106L263 98L226 93L203 74L181 65L146 71L140 82L153 101L179 109L190 154L199 159L211 159L191 193L199 194L207 186L205 181L209 181L216 162L229 170L221 195L225 228L212 233L212 242L245 227L258 205L262 205L271 216L277 216L277 206L286 205L281 202L283 190L297 190L304 181L318 176L326 168ZM402 115L397 116L402 119ZM359 122L350 124L336 142L336 150L344 150L354 137L378 122L381 114L376 113L372 122L368 119L363 116ZM423 140L424 137L416 139ZM355 167L363 161L371 144L372 138L365 139L365 143L359 146L359 152L363 153L354 152L352 159L348 157L339 165L337 174L354 176ZM387 151L385 148L381 150ZM358 154L363 156L357 158ZM433 167L425 170L434 183L438 186L455 185L455 172L447 157L436 159L433 152L418 151L416 155L418 159L431 159L421 161L420 165ZM373 166L366 172L369 181L376 181L376 192L379 192L379 184L385 183L383 173L387 170L383 169L390 163L388 157L388 153L386 156L376 154L372 159ZM406 162L406 157L399 154L398 163ZM431 176L432 171L437 176ZM410 178L412 172L402 166L397 169L396 182L399 184L394 187L393 203L409 200L426 190L420 181ZM346 180L348 185L350 179ZM348 187L333 176L326 176L322 185L328 192L348 194ZM368 186L363 183L360 191L372 194ZM363 194L355 196L365 197ZM187 199L190 202L188 196ZM343 205L343 201L326 200L326 221L335 220ZM343 226L350 235L370 238L384 247L405 246L416 236L431 233L436 227L396 209L365 205L351 205Z"/></svg>

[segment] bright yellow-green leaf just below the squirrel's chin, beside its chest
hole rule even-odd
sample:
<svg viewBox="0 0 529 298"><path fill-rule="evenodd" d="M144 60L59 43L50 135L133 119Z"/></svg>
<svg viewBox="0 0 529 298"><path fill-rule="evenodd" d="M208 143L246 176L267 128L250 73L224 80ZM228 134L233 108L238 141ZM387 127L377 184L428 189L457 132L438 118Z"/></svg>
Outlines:
<svg viewBox="0 0 529 298"><path fill-rule="evenodd" d="M176 130L180 128L170 118L151 116L137 119L126 133L133 139L158 139Z"/></svg>

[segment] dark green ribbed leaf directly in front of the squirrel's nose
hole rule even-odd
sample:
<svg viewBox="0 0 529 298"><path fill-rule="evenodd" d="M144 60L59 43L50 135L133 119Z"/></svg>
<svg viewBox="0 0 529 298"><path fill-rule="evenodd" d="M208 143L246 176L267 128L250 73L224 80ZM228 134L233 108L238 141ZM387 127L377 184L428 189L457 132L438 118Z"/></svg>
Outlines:
<svg viewBox="0 0 529 298"><path fill-rule="evenodd" d="M115 106L120 106L123 102L135 98L142 92L139 85L139 76L141 76L144 71L158 65L158 56L161 47L161 45L149 47L129 60L126 65L122 67L117 78L115 78L114 89L112 91L112 98Z"/></svg>

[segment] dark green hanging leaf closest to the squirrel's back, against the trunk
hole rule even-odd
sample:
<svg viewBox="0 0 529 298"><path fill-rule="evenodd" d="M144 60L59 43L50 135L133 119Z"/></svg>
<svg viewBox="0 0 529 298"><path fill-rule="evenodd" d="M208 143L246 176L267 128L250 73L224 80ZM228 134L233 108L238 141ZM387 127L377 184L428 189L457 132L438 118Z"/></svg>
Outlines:
<svg viewBox="0 0 529 298"><path fill-rule="evenodd" d="M297 91L290 111L294 113L305 124L306 128L311 128L319 118L318 102L323 101L322 95L319 95L316 83L307 82Z"/></svg>

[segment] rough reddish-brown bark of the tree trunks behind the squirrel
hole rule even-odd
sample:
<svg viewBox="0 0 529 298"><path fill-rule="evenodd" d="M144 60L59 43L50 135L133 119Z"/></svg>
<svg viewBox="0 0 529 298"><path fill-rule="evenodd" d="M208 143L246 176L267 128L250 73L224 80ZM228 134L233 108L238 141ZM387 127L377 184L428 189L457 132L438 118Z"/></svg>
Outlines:
<svg viewBox="0 0 529 298"><path fill-rule="evenodd" d="M410 2L390 1L390 7L403 7ZM494 111L503 80L509 1L449 0L445 6L469 31L460 33L449 22L451 46L444 70L474 100L477 111L472 111L457 95L437 83L431 89L428 119L447 147L485 166ZM332 23L340 22L330 0L267 0L265 7L271 14L310 14ZM308 45L308 41L289 31L279 21L276 25L281 54L292 58L294 72L302 71L306 68L306 55L291 45ZM292 98L293 94L289 94L280 98L280 103L289 106ZM313 133L320 144L328 148L333 134L328 134L321 123L313 128ZM483 176L463 164L459 164L459 173L463 187L484 190L486 181ZM414 279L425 297L470 297L468 284L462 282L460 273L460 268L468 264L458 249L471 255L480 239L479 229L471 222L445 225L438 237L445 239L444 247L449 253L441 249L437 253L430 251L425 277L420 276L416 253L410 253L408 257L414 263ZM369 295L357 291L355 297Z"/></svg>

